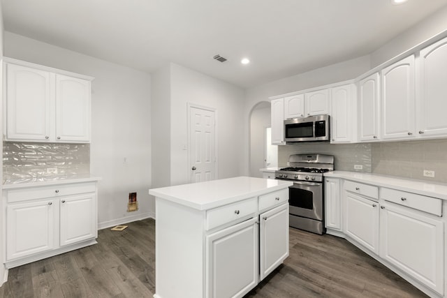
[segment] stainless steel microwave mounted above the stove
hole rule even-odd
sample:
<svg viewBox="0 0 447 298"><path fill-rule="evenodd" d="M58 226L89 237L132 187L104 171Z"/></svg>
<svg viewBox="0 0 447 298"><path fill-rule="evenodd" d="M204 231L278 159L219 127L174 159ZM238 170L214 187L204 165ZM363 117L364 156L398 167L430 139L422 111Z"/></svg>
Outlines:
<svg viewBox="0 0 447 298"><path fill-rule="evenodd" d="M286 142L315 142L330 140L329 115L284 120Z"/></svg>

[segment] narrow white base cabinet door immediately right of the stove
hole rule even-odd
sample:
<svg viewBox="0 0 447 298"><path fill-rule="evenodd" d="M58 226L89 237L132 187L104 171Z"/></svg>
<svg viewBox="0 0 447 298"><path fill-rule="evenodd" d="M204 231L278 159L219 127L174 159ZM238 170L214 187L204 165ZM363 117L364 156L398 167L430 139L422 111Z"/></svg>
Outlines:
<svg viewBox="0 0 447 298"><path fill-rule="evenodd" d="M330 230L342 230L340 181L335 178L325 179L325 227L328 234L331 234Z"/></svg>

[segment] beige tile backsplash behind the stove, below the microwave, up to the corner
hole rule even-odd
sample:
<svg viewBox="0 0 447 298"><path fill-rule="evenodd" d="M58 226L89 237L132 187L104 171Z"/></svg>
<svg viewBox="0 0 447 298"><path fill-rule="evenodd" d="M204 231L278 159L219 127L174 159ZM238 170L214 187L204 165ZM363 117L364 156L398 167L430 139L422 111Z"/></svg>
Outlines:
<svg viewBox="0 0 447 298"><path fill-rule="evenodd" d="M329 142L300 142L278 146L278 166L287 165L291 154L328 154L334 156L335 170L371 172L371 144L330 144ZM362 165L362 170L354 170Z"/></svg>

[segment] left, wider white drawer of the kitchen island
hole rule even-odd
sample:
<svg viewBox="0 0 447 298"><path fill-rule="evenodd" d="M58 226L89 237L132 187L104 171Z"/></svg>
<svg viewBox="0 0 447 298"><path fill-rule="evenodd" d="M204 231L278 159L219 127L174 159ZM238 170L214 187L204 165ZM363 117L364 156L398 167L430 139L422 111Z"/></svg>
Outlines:
<svg viewBox="0 0 447 298"><path fill-rule="evenodd" d="M224 223L235 221L237 218L254 214L256 211L258 211L258 199L256 197L211 209L207 211L206 229L211 230Z"/></svg>

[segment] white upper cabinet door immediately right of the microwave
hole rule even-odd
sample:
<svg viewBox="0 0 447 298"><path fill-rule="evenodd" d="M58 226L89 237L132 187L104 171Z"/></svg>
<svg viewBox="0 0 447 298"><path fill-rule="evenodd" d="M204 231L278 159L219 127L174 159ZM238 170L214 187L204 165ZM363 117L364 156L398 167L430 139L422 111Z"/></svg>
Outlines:
<svg viewBox="0 0 447 298"><path fill-rule="evenodd" d="M330 142L349 143L353 142L356 122L356 105L354 84L330 89L332 101L330 112Z"/></svg>

